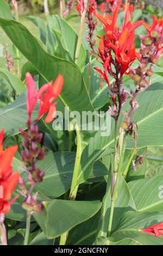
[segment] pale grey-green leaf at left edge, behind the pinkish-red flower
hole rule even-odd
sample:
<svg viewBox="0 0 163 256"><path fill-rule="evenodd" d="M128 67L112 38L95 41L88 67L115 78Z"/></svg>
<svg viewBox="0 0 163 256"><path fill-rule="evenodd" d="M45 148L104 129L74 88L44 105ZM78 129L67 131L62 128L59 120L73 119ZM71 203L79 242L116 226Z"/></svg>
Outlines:
<svg viewBox="0 0 163 256"><path fill-rule="evenodd" d="M37 117L38 108L33 112L33 118ZM3 108L0 108L0 130L5 129L7 135L19 133L19 127L25 129L27 122L26 94L23 93L17 99Z"/></svg>

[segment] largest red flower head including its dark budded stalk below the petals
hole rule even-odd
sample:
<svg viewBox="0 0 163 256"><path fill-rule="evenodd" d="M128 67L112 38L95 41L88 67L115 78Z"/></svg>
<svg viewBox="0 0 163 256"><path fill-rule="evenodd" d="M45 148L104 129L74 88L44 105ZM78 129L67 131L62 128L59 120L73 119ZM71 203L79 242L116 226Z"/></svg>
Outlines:
<svg viewBox="0 0 163 256"><path fill-rule="evenodd" d="M98 67L95 69L98 71L101 81L105 81L110 89L114 107L114 109L110 108L110 113L115 120L118 119L121 108L127 100L127 93L121 90L122 77L136 58L140 60L140 53L135 50L134 30L143 23L143 21L137 21L131 24L129 13L126 11L124 24L119 28L116 21L120 4L117 5L112 17L109 14L106 14L105 17L96 14L103 23L105 34L100 38L98 48L98 59L103 65L103 70ZM115 79L112 85L109 82L109 75ZM102 87L102 83L100 84Z"/></svg>

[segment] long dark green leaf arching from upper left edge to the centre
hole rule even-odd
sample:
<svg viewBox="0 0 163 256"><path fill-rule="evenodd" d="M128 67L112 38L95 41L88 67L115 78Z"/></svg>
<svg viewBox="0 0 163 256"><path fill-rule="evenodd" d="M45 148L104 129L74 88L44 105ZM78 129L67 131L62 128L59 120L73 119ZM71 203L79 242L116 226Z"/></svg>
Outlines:
<svg viewBox="0 0 163 256"><path fill-rule="evenodd" d="M49 55L20 23L0 18L0 25L45 80L54 81L59 73L64 76L60 99L65 106L70 107L70 111L93 111L82 74L76 65Z"/></svg>

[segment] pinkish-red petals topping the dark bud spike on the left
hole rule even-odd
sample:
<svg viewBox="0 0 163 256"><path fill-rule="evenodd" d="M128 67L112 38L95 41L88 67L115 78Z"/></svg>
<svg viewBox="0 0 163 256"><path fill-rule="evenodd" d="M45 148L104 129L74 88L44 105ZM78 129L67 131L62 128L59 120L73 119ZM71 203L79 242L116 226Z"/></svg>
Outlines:
<svg viewBox="0 0 163 256"><path fill-rule="evenodd" d="M27 95L28 123L31 122L31 115L38 100L40 100L40 105L39 105L39 114L36 120L41 118L43 114L48 113L47 117L45 118L45 121L46 123L50 123L54 119L53 114L56 111L56 107L55 107L56 102L53 103L53 101L57 99L57 97L61 93L61 90L64 84L64 78L61 75L58 75L57 79L54 81L53 84L52 83L44 84L40 88L40 90L36 91L33 77L29 73L27 73L26 83L27 83L27 89L28 89L28 95Z"/></svg>

